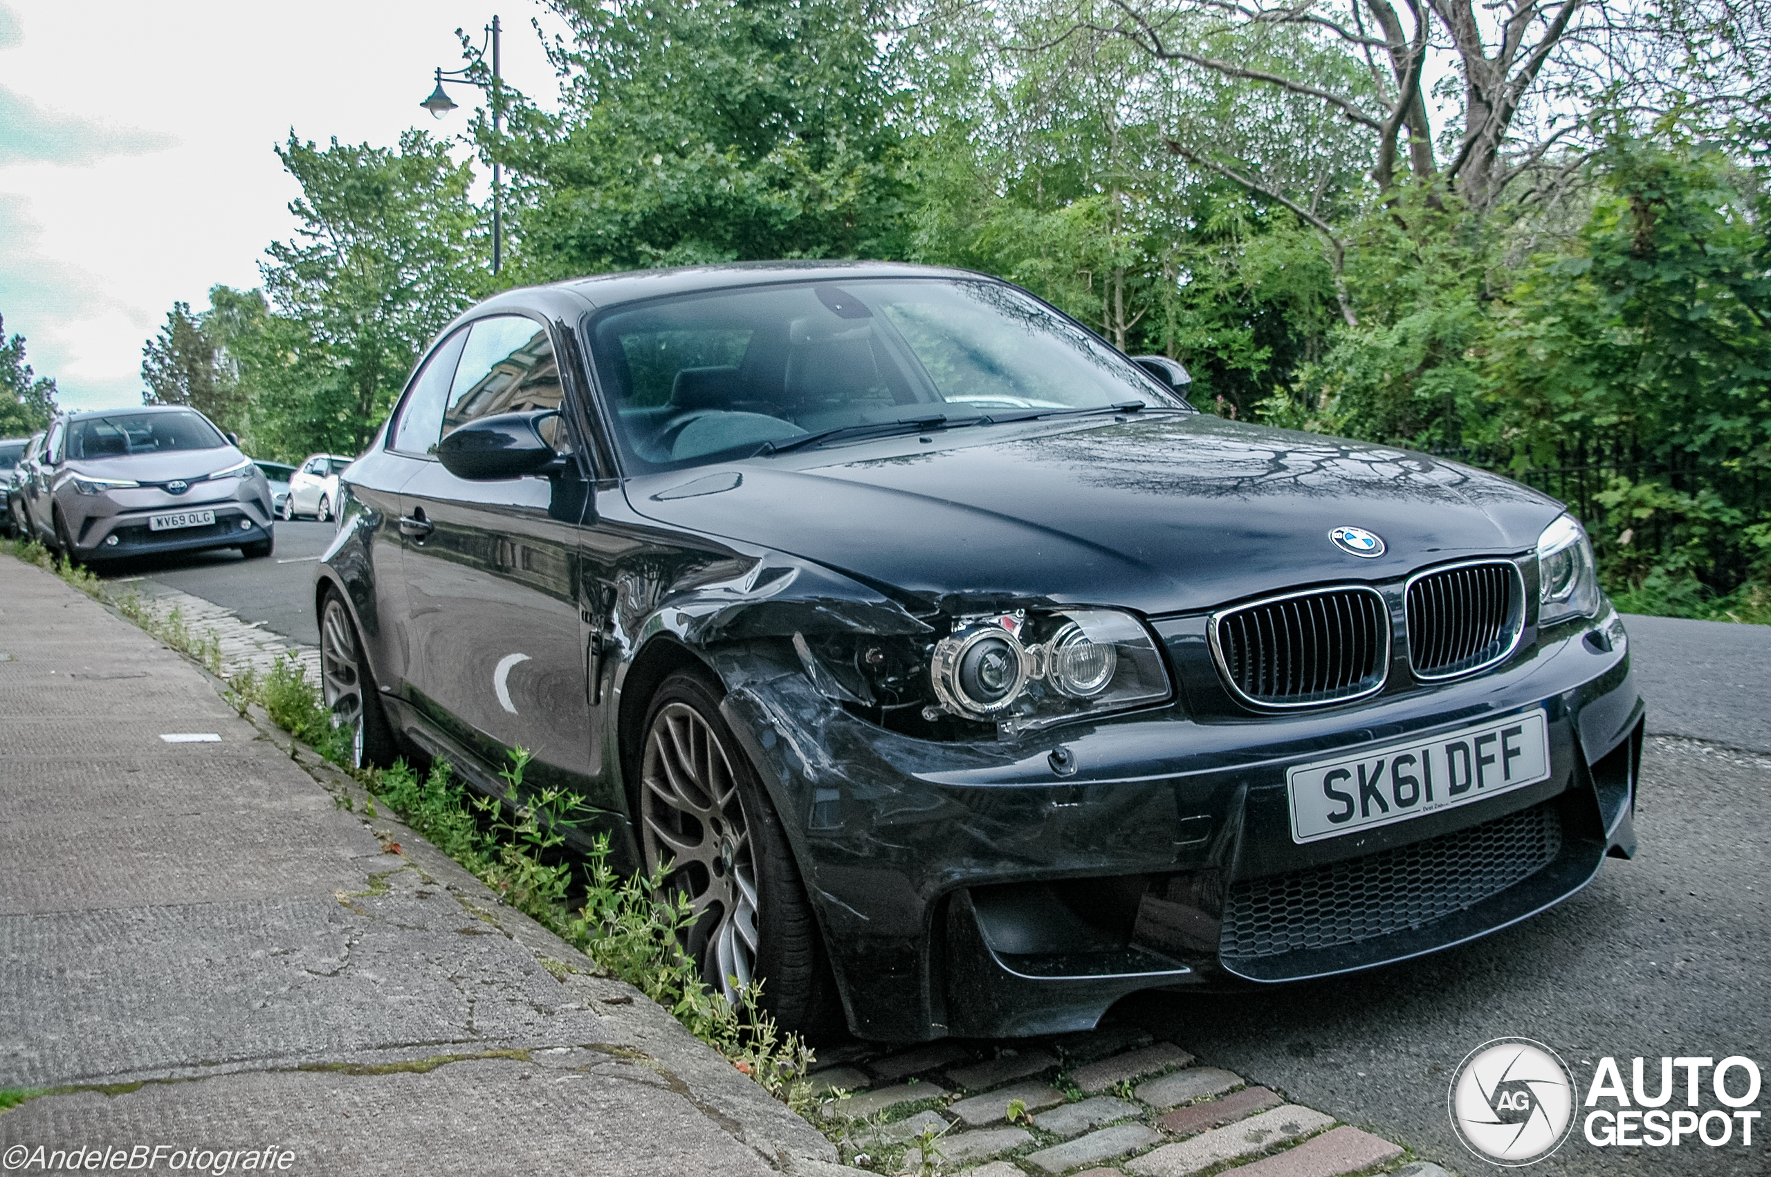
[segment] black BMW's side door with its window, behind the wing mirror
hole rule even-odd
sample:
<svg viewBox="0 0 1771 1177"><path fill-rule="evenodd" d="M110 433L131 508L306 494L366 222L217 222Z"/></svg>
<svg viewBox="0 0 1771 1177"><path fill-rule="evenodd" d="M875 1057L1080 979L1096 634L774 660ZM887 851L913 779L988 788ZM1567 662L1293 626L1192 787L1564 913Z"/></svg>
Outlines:
<svg viewBox="0 0 1771 1177"><path fill-rule="evenodd" d="M482 416L561 405L547 326L524 315L471 324L441 435ZM570 430L554 419L568 474L457 478L425 462L400 501L411 703L437 735L498 770L535 754L526 781L588 788L590 710L577 593L583 481Z"/></svg>

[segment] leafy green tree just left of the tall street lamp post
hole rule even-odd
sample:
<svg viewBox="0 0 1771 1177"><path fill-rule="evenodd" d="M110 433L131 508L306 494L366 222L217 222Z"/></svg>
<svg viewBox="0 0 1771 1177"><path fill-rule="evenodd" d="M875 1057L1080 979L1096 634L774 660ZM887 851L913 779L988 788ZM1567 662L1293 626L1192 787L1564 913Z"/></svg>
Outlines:
<svg viewBox="0 0 1771 1177"><path fill-rule="evenodd" d="M354 453L423 345L485 288L473 170L423 131L404 133L398 150L290 135L278 158L301 184L289 205L299 228L260 264L275 313L248 347L264 381L255 432L283 453L296 442Z"/></svg>

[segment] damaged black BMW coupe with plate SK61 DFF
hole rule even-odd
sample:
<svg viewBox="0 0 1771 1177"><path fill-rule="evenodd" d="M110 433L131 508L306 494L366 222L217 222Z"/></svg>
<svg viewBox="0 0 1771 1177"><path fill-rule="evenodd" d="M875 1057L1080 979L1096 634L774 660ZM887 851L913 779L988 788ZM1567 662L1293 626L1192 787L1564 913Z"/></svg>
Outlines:
<svg viewBox="0 0 1771 1177"><path fill-rule="evenodd" d="M485 791L533 750L710 982L873 1039L1401 961L1633 853L1580 524L1181 381L958 271L501 294L342 476L328 699Z"/></svg>

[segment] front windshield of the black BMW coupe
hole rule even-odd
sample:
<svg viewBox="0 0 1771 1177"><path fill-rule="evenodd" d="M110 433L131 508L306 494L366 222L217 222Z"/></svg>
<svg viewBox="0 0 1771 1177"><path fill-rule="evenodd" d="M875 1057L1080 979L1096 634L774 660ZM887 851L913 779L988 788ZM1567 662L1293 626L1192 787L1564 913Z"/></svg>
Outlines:
<svg viewBox="0 0 1771 1177"><path fill-rule="evenodd" d="M659 299L602 315L592 336L641 471L845 427L1179 407L1102 340L985 280L832 276Z"/></svg>

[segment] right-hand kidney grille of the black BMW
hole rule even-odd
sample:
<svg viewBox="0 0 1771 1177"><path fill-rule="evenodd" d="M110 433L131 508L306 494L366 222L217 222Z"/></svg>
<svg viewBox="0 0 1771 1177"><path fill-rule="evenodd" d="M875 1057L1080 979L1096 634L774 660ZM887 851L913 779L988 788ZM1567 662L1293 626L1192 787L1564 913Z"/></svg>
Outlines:
<svg viewBox="0 0 1771 1177"><path fill-rule="evenodd" d="M1429 572L1408 582L1408 658L1417 678L1450 678L1505 658L1525 621L1512 561Z"/></svg>

